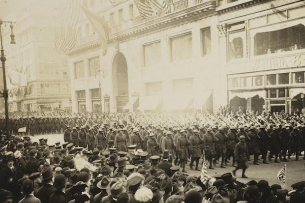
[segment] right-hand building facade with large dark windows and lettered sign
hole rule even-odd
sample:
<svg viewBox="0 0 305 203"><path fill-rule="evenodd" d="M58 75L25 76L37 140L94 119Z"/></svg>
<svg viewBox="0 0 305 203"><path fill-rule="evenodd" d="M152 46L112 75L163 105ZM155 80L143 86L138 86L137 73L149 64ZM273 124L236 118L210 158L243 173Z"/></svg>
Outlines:
<svg viewBox="0 0 305 203"><path fill-rule="evenodd" d="M304 1L219 0L216 11L229 106L301 112L305 107Z"/></svg>

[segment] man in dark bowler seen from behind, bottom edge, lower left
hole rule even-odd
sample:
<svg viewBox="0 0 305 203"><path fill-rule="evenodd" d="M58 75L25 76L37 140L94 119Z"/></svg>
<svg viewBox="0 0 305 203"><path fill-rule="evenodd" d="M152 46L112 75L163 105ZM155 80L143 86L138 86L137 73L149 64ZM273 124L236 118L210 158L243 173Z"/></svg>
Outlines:
<svg viewBox="0 0 305 203"><path fill-rule="evenodd" d="M49 203L67 203L66 188L67 180L63 174L58 174L54 179L55 192L50 196Z"/></svg>

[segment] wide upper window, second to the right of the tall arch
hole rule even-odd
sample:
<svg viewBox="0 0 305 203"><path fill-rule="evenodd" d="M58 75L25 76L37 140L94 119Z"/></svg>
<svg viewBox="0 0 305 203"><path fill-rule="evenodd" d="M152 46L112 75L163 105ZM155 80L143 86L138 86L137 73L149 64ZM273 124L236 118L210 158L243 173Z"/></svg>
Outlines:
<svg viewBox="0 0 305 203"><path fill-rule="evenodd" d="M192 33L170 38L171 61L192 57Z"/></svg>

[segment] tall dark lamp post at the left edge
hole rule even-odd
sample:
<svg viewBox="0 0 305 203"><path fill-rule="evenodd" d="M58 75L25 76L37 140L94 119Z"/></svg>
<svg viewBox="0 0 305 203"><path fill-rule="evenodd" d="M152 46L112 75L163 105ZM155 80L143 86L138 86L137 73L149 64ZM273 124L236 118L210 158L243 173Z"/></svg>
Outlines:
<svg viewBox="0 0 305 203"><path fill-rule="evenodd" d="M13 23L14 22L11 22L11 21L2 21L2 19L0 19L0 40L1 40L1 57L0 57L0 60L2 62L2 71L3 71L3 91L1 92L0 96L1 97L4 97L4 108L5 108L5 131L6 131L6 134L8 135L9 132L8 132L8 102L7 102L7 99L8 99L8 92L7 92L7 88L6 88L6 75L5 75L5 56L4 56L4 50L3 50L3 43L2 43L2 30L1 30L1 26L2 24L10 24L9 28L11 29L11 34L10 34L10 37L11 37L11 44L15 44L15 35L13 33Z"/></svg>

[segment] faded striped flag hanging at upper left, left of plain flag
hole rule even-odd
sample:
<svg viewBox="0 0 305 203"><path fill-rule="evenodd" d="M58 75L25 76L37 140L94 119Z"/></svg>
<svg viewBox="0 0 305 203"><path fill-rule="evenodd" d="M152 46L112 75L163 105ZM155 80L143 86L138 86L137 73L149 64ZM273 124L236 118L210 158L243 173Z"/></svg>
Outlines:
<svg viewBox="0 0 305 203"><path fill-rule="evenodd" d="M77 41L76 24L81 17L80 0L67 1L61 18L61 28L55 37L56 53L67 53L75 46Z"/></svg>

